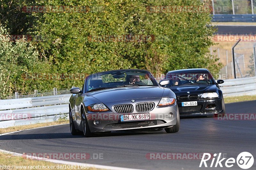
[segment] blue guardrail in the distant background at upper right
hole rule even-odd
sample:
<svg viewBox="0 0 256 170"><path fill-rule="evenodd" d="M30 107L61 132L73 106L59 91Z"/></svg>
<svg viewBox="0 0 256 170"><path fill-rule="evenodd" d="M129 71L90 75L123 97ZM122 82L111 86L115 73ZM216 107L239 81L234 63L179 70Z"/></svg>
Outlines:
<svg viewBox="0 0 256 170"><path fill-rule="evenodd" d="M256 22L256 14L215 14L212 22Z"/></svg>

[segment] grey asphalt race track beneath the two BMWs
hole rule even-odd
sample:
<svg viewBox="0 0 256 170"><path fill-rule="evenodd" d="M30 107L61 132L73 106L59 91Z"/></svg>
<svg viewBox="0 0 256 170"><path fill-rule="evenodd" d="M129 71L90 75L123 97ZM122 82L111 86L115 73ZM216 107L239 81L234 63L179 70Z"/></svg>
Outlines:
<svg viewBox="0 0 256 170"><path fill-rule="evenodd" d="M256 113L256 101L227 104L227 113ZM72 136L69 125L16 132L0 136L0 149L17 153L103 153L103 159L68 160L98 165L137 169L241 169L199 168L201 159L152 160L147 153L223 153L235 158L241 152L254 156L256 169L256 121L216 120L208 118L181 119L180 131L112 132L109 135L84 138ZM212 159L207 162L210 166ZM216 162L216 159L215 159ZM215 165L215 163L213 164Z"/></svg>

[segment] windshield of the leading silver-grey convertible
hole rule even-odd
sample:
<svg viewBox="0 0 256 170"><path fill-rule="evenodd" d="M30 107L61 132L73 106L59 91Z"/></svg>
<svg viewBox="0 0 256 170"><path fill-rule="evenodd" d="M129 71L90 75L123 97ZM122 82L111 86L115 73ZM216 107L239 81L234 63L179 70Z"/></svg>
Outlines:
<svg viewBox="0 0 256 170"><path fill-rule="evenodd" d="M86 78L86 92L125 86L159 86L156 79L144 70L113 70L96 73Z"/></svg>

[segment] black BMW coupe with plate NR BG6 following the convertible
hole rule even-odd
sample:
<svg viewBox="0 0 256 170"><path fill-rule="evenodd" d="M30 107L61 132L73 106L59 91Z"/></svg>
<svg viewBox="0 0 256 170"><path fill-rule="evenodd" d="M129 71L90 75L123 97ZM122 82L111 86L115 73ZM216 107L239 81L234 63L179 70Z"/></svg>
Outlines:
<svg viewBox="0 0 256 170"><path fill-rule="evenodd" d="M169 71L165 78L176 95L180 117L224 115L225 104L219 84L207 69Z"/></svg>

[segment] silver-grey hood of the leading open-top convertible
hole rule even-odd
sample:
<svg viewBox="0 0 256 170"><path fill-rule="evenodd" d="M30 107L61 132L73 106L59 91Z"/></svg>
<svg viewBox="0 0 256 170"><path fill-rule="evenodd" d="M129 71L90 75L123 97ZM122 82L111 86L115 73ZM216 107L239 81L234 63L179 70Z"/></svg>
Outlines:
<svg viewBox="0 0 256 170"><path fill-rule="evenodd" d="M111 102L120 100L132 100L141 98L160 98L164 93L164 88L159 86L135 86L105 89L86 93L101 102Z"/></svg>

